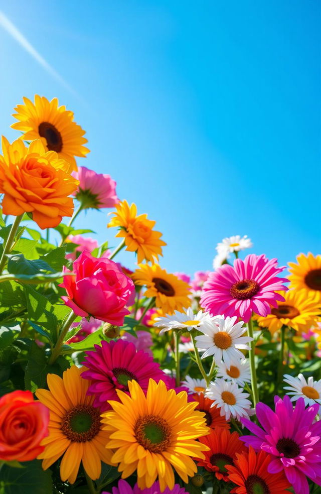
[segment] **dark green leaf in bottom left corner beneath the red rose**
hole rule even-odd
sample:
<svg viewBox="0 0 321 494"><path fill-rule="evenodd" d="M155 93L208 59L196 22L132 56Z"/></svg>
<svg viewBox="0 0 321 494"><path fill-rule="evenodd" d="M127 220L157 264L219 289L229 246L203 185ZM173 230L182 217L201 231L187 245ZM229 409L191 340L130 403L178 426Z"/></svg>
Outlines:
<svg viewBox="0 0 321 494"><path fill-rule="evenodd" d="M26 461L24 468L3 465L0 494L51 494L51 471L43 470L40 460Z"/></svg>

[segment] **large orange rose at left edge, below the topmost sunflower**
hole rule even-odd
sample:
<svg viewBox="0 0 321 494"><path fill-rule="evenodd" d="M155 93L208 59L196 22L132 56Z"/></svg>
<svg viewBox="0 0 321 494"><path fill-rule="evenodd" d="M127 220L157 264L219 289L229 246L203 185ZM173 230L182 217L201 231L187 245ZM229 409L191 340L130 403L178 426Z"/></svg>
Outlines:
<svg viewBox="0 0 321 494"><path fill-rule="evenodd" d="M40 228L57 226L63 216L72 216L74 202L70 194L79 181L72 177L69 164L55 151L46 153L41 141L29 148L18 139L12 144L3 137L0 155L0 193L4 214L32 213Z"/></svg>

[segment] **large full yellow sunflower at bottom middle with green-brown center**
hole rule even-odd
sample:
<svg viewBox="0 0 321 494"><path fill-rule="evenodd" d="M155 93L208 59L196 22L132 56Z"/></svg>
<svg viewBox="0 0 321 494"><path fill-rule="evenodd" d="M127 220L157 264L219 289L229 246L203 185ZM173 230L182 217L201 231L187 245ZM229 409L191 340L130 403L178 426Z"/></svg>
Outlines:
<svg viewBox="0 0 321 494"><path fill-rule="evenodd" d="M184 482L197 467L191 457L205 458L208 448L196 441L209 434L202 412L195 411L196 402L187 402L187 393L178 395L167 390L163 381L149 380L145 396L136 381L128 382L130 396L116 390L121 403L109 401L113 411L102 414L113 448L112 461L126 478L137 470L140 489L150 487L158 476L161 491L173 489L174 471Z"/></svg>

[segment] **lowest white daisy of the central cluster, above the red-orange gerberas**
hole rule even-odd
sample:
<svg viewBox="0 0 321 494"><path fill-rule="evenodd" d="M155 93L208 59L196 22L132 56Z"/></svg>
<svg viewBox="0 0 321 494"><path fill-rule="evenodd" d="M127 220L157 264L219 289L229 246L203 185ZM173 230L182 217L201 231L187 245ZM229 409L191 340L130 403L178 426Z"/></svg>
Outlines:
<svg viewBox="0 0 321 494"><path fill-rule="evenodd" d="M206 390L205 396L213 400L212 407L220 408L220 414L222 417L225 415L226 420L229 420L231 415L237 420L240 420L240 417L249 418L251 402L247 397L250 395L243 393L243 389L237 384L216 379Z"/></svg>

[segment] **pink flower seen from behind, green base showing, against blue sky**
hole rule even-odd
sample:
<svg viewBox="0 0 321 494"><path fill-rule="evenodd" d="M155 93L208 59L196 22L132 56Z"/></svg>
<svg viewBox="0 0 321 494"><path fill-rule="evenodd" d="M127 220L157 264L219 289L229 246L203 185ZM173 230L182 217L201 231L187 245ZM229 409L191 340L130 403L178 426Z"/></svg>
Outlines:
<svg viewBox="0 0 321 494"><path fill-rule="evenodd" d="M72 175L80 181L75 196L83 209L114 207L118 202L116 182L110 175L96 173L85 166L79 166L78 171L72 172Z"/></svg>

